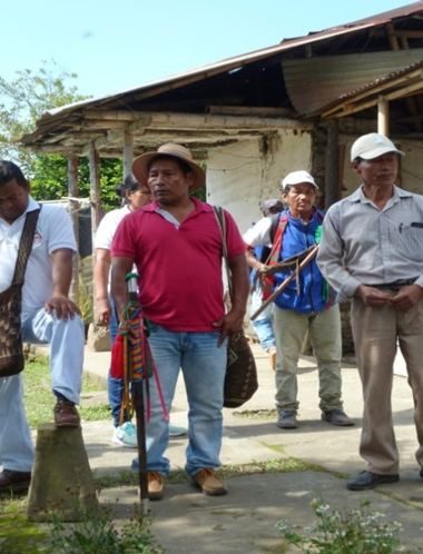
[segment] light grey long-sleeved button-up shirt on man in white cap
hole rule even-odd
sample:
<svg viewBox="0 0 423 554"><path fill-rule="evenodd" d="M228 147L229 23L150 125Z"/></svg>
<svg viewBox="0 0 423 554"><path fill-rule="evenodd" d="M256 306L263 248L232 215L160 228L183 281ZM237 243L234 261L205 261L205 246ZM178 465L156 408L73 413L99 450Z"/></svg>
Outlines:
<svg viewBox="0 0 423 554"><path fill-rule="evenodd" d="M327 211L317 264L340 300L360 285L384 285L416 278L423 288L423 196L393 185L381 210L363 192Z"/></svg>

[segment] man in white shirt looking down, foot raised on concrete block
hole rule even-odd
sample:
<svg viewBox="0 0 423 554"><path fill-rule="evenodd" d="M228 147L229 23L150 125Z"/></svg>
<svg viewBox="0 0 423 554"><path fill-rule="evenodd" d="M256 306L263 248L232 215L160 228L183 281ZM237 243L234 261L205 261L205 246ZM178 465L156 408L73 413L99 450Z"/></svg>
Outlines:
<svg viewBox="0 0 423 554"><path fill-rule="evenodd" d="M12 283L27 214L40 209L20 168L0 160L0 296ZM58 427L79 427L85 332L79 308L68 297L76 241L68 214L40 210L22 289L21 335L50 345L51 387ZM0 374L1 375L1 374ZM24 491L31 479L33 444L23 408L21 375L0 377L0 492Z"/></svg>

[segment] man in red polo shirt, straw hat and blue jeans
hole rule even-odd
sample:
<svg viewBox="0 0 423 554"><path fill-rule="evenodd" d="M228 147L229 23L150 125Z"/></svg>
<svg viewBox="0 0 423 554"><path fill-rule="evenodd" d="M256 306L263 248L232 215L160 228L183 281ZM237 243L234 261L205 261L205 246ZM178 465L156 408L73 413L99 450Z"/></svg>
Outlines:
<svg viewBox="0 0 423 554"><path fill-rule="evenodd" d="M189 404L186 472L203 493L226 494L215 468L220 465L227 340L243 327L249 290L244 241L225 212L234 286L233 306L225 314L220 231L212 206L190 196L204 185L204 170L183 146L165 145L137 158L132 172L150 187L155 200L129 214L116 231L111 294L121 314L127 301L125 276L135 263L138 299L151 323L149 343L168 409L179 370L184 374ZM159 499L169 474L164 457L168 424L154 380L150 395L148 492L150 499Z"/></svg>

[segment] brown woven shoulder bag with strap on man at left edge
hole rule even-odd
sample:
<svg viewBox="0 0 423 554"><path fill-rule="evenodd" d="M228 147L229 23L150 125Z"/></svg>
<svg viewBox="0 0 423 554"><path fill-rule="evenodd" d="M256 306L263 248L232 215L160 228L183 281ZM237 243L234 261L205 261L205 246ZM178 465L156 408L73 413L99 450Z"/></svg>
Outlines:
<svg viewBox="0 0 423 554"><path fill-rule="evenodd" d="M39 209L27 214L12 284L0 293L0 377L17 375L24 365L20 325L22 287L39 214Z"/></svg>

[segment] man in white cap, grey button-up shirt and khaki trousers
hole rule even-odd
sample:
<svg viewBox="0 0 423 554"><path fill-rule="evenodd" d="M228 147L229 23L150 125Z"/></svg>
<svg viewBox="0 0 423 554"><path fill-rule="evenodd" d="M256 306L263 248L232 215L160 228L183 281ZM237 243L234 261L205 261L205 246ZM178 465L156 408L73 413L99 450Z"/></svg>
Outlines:
<svg viewBox="0 0 423 554"><path fill-rule="evenodd" d="M352 327L364 414L360 454L367 468L352 491L400 479L391 393L396 345L413 390L423 477L423 197L394 185L399 155L383 135L353 145L353 171L362 186L332 206L323 226L318 265L343 299L352 299Z"/></svg>

